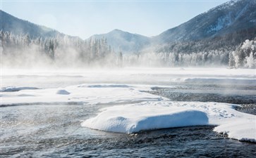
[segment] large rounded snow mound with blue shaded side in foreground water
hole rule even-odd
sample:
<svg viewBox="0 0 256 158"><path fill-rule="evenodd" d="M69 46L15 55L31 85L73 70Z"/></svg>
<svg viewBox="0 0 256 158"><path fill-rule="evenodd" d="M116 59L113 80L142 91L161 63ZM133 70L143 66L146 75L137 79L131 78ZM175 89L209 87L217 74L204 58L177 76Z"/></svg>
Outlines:
<svg viewBox="0 0 256 158"><path fill-rule="evenodd" d="M118 133L166 129L181 126L208 125L205 112L186 107L121 105L106 107L82 126Z"/></svg>

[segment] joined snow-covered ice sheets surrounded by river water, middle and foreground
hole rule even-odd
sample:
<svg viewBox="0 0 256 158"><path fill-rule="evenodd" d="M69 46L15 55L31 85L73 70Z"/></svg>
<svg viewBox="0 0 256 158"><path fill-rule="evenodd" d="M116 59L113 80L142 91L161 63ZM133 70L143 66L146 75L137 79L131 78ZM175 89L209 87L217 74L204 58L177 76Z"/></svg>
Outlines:
<svg viewBox="0 0 256 158"><path fill-rule="evenodd" d="M256 117L226 103L173 102L151 91L158 86L82 84L62 88L19 88L1 91L1 106L36 104L106 105L82 126L135 133L181 126L213 125L230 138L256 142Z"/></svg>

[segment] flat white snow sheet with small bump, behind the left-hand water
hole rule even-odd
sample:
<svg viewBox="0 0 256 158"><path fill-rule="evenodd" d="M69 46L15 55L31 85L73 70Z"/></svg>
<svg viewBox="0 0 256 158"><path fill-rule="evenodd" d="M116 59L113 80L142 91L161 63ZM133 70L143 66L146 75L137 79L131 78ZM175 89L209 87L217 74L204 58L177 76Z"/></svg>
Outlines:
<svg viewBox="0 0 256 158"><path fill-rule="evenodd" d="M12 93L2 93L0 106L69 103L110 105L137 103L146 100L166 100L166 98L142 92L150 90L150 86L139 85L81 84L65 88L13 91Z"/></svg>

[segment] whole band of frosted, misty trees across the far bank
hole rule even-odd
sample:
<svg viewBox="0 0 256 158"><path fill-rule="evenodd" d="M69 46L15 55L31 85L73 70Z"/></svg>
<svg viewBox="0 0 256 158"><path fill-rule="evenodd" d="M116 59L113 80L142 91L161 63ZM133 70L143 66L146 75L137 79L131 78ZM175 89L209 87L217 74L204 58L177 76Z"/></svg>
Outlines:
<svg viewBox="0 0 256 158"><path fill-rule="evenodd" d="M8 67L190 67L256 68L256 38L233 41L174 42L123 55L107 39L76 37L30 38L28 34L0 32L1 64ZM223 46L217 46L217 45ZM209 49L209 46L213 47ZM207 47L208 46L208 47ZM216 46L216 49L214 49Z"/></svg>

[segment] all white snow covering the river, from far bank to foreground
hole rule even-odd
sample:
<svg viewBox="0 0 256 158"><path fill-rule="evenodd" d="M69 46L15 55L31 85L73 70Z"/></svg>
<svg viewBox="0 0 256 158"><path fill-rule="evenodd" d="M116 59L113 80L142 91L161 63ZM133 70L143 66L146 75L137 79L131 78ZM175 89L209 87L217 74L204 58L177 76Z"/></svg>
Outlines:
<svg viewBox="0 0 256 158"><path fill-rule="evenodd" d="M82 126L133 133L180 126L217 126L230 138L256 142L255 115L226 103L175 102L146 91L191 84L256 85L255 70L224 68L125 68L122 70L2 70L1 107L12 105L104 105ZM85 84L84 84L85 83ZM233 90L233 91L236 91ZM239 90L240 91L240 90ZM241 90L242 91L242 90Z"/></svg>

